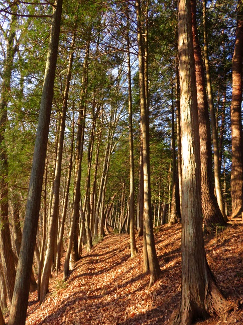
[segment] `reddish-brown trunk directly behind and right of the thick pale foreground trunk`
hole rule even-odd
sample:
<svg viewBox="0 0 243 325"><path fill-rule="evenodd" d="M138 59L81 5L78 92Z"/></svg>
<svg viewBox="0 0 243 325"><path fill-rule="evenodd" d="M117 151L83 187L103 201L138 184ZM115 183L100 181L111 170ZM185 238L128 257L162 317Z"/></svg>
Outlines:
<svg viewBox="0 0 243 325"><path fill-rule="evenodd" d="M219 209L212 185L210 121L201 48L197 37L195 0L191 0L191 11L200 135L202 214L204 218L204 227L207 231L211 231L215 228L216 224L226 225L226 222L224 221L223 215Z"/></svg>

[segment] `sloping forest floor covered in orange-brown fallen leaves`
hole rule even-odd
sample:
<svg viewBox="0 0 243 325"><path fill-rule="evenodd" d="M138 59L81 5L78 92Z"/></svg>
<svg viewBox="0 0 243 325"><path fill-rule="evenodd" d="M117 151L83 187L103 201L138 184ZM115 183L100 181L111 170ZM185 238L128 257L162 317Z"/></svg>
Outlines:
<svg viewBox="0 0 243 325"><path fill-rule="evenodd" d="M155 228L161 279L148 289L150 275L142 272L143 242L130 258L128 235L109 234L90 254L84 254L63 282L60 272L50 281L50 293L39 305L29 296L26 324L168 324L180 303L181 225ZM207 260L218 286L233 310L196 324L243 324L243 223L205 236ZM8 320L6 318L6 320Z"/></svg>

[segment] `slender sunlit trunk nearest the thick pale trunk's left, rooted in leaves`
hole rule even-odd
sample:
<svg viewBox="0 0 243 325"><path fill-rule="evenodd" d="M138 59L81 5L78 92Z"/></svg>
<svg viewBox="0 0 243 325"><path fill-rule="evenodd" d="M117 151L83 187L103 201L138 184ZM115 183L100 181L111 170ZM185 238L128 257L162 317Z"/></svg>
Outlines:
<svg viewBox="0 0 243 325"><path fill-rule="evenodd" d="M143 135L143 170L144 170L144 222L146 229L146 242L150 268L150 284L152 286L161 276L161 270L156 255L155 240L152 224L151 184L150 184L150 149L149 149L149 112L146 107L146 94L144 82L144 62L141 24L141 4L136 1L138 23L138 47L139 47L139 83L140 83L140 109Z"/></svg>

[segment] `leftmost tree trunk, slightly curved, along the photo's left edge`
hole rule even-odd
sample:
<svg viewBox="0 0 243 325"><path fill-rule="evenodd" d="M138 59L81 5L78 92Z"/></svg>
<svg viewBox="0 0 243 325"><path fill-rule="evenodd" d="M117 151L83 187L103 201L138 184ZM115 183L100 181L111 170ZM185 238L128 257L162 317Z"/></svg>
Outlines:
<svg viewBox="0 0 243 325"><path fill-rule="evenodd" d="M0 253L3 263L4 276L7 287L7 294L11 303L14 286L15 286L15 263L14 253L11 245L11 235L9 228L9 186L8 186L8 156L5 143L5 133L8 122L7 108L9 103L10 84L13 70L15 53L18 45L15 45L17 8L12 8L13 16L10 22L9 33L6 33L7 52L4 60L4 70L2 75L1 99L0 99L0 160L1 160L1 177L0 177Z"/></svg>

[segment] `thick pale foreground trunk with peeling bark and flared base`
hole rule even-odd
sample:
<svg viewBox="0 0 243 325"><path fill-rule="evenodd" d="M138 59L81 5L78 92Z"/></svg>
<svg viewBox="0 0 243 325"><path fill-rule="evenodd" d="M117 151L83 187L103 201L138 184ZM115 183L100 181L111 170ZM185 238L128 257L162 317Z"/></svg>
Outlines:
<svg viewBox="0 0 243 325"><path fill-rule="evenodd" d="M178 1L182 139L182 294L174 324L221 313L226 301L206 260L202 232L200 148L190 0Z"/></svg>

